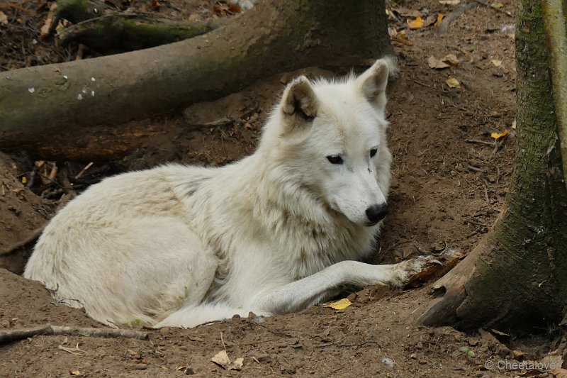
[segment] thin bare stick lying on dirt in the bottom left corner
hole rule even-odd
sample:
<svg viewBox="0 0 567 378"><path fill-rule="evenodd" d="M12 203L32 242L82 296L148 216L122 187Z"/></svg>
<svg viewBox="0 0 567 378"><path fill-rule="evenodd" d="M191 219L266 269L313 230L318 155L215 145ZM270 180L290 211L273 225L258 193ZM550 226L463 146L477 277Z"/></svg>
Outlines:
<svg viewBox="0 0 567 378"><path fill-rule="evenodd" d="M138 340L147 340L148 337L147 332L141 332L139 330L48 325L32 328L18 328L13 330L0 330L0 344L10 343L11 341L22 340L25 338L31 338L37 335L69 335L94 338L135 338Z"/></svg>

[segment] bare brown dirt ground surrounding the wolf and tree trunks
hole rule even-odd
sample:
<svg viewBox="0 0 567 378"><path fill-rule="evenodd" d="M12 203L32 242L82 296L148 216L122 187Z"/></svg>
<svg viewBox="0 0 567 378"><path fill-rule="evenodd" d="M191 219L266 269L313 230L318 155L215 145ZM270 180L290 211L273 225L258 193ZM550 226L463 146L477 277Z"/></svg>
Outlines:
<svg viewBox="0 0 567 378"><path fill-rule="evenodd" d="M501 2L504 11L515 13L515 1ZM1 70L73 59L76 47L60 50L49 41L33 42L47 13L45 1L10 4L29 11L0 3L0 11L9 16L9 24L0 25ZM213 2L162 4L166 16L179 19L211 16ZM147 8L138 0L130 6ZM454 9L429 0L405 6L425 15ZM389 89L394 155L391 214L375 262L396 262L445 248L466 253L493 225L507 193L515 150L513 30L500 30L514 21L501 11L478 6L457 18L443 35L431 27L408 30L412 45L394 43L401 74ZM401 26L395 20L391 25ZM428 57L450 53L460 60L455 67L427 66ZM491 60L502 63L496 67ZM300 72L344 73L309 68L276 75L240 94L193 105L185 116L173 113L132 122L128 128L143 130L139 143L120 160L94 162L81 179L73 178L84 163L45 162L35 169L47 175L57 165L53 184L40 174L32 177L34 159L26 152L0 154L0 251L42 226L63 201L62 194L80 192L105 175L171 160L221 165L249 154L282 82ZM449 76L461 82L460 89L447 86ZM240 104L245 104L245 111ZM224 126L189 127L227 114L237 119ZM490 142L491 132L505 129L510 135L498 145L466 142ZM22 184L23 177L28 184ZM29 250L28 243L11 255L0 252L1 266L18 272ZM0 331L45 323L97 326L82 311L57 304L37 282L5 269L0 269L0 282ZM510 353L508 347L527 352L527 358L540 357L551 348L545 337L520 340L512 335L505 346L488 335L414 326L415 311L430 299L427 285L407 291L371 287L351 298L354 304L340 312L315 306L287 316L234 318L189 330L150 330L150 340L35 336L0 346L0 377L64 377L77 370L90 377L181 377L190 372L200 377L514 376L519 372L487 371L484 363L503 359ZM78 345L84 353L66 352L60 345ZM474 357L466 357L461 347L473 350ZM224 348L230 358L244 359L242 371L225 371L210 362ZM387 359L393 366L388 367Z"/></svg>

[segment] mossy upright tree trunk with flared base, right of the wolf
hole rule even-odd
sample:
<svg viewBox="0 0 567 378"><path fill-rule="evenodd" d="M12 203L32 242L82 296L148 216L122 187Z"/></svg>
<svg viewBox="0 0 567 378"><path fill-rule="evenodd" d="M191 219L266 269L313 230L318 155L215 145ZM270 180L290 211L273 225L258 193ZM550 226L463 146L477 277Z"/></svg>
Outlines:
<svg viewBox="0 0 567 378"><path fill-rule="evenodd" d="M542 1L548 4L561 1ZM560 13L562 16L562 13ZM550 13L539 1L521 0L516 29L517 157L510 193L493 230L447 276L435 284L442 294L418 321L458 328L539 331L558 324L567 304L567 190L558 135L566 103L554 103L565 81L548 69ZM553 13L554 18L558 13ZM555 20L556 21L556 20ZM563 17L563 26L564 26ZM549 28L548 28L549 31ZM564 33L564 29L563 29ZM549 38L553 36L547 35ZM563 34L563 38L565 35ZM563 74L566 66L561 67ZM556 67L557 68L557 67ZM551 72L556 75L555 70ZM555 92L557 94L557 92ZM556 96L559 98L561 96Z"/></svg>

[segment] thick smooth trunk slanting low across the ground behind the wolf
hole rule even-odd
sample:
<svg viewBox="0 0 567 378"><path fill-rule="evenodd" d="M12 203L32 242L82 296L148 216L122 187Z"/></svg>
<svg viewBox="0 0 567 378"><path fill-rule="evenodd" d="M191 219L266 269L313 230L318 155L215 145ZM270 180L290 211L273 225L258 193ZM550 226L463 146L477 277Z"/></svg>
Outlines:
<svg viewBox="0 0 567 378"><path fill-rule="evenodd" d="M190 40L3 72L0 148L36 148L47 132L57 144L69 128L218 98L276 72L349 67L391 52L383 0L261 2Z"/></svg>

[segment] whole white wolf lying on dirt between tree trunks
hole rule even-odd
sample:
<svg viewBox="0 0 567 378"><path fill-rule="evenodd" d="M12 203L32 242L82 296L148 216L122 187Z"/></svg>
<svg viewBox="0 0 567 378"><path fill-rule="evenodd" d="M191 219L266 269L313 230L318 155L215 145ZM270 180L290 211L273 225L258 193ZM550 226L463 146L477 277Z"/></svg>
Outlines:
<svg viewBox="0 0 567 378"><path fill-rule="evenodd" d="M434 263L357 262L386 216L388 60L359 77L298 77L253 155L103 180L38 240L24 276L110 326L192 327L307 308L343 284L400 287Z"/></svg>

